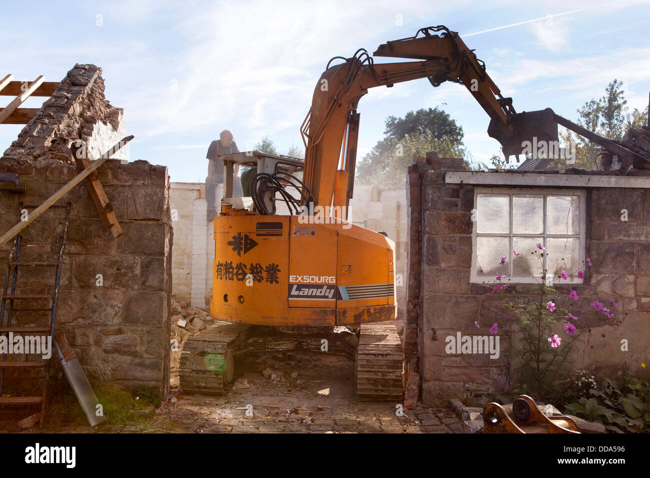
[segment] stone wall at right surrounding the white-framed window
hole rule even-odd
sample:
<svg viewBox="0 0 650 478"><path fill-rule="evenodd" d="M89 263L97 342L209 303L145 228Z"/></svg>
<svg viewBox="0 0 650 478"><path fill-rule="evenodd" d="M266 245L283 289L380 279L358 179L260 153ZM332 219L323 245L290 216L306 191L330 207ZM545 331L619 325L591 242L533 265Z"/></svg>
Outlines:
<svg viewBox="0 0 650 478"><path fill-rule="evenodd" d="M474 187L445 183L445 174L459 169L463 169L461 163L435 158L409 168L411 256L406 330L411 332L405 349L407 361L417 365L413 369L421 378L425 406L443 406L452 398L465 405L483 406L494 395L507 393L511 380L504 339L497 359L489 354L445 351L445 338L457 332L489 336L487 329L495 322L500 334L511 330L502 309L504 297L493 293L493 284L470 283ZM565 187L571 187L570 179ZM594 365L597 373L606 377L629 370L647 380L647 369L641 364L647 362L650 349L650 190L590 187L586 191L586 256L593 266L586 269L584 284L556 287L560 298L556 306L570 308L580 317L593 312L588 305L593 299L612 298L618 307L607 306L616 313L617 323L610 319L593 326L584 336L588 343L575 349L565 367L575 371ZM621 209L628 211L627 221L621 220ZM579 306L568 298L571 289L578 292ZM515 298L513 290L508 294ZM530 284L520 285L516 295L536 297ZM476 328L474 321L481 328ZM629 350L621 350L621 339L629 341Z"/></svg>

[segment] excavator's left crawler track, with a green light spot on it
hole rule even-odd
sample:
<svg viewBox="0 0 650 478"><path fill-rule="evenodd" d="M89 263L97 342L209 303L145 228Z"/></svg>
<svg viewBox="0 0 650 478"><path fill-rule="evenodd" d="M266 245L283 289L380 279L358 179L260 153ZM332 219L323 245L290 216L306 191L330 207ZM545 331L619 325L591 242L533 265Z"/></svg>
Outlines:
<svg viewBox="0 0 650 478"><path fill-rule="evenodd" d="M236 349L249 327L218 321L187 339L179 367L183 392L226 394L235 375Z"/></svg>

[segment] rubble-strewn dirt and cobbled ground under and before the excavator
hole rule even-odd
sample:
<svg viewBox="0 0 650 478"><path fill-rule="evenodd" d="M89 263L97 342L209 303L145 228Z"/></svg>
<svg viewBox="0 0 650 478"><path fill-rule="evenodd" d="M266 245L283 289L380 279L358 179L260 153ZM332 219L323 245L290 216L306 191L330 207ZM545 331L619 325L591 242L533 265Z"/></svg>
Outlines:
<svg viewBox="0 0 650 478"><path fill-rule="evenodd" d="M395 403L363 403L354 393L354 363L342 356L286 352L275 380L239 373L227 395L188 395L172 369L170 396L144 423L32 427L45 433L454 433L460 419L448 408L414 408L398 416ZM293 374L293 377L292 377ZM268 373L267 373L268 375ZM248 386L248 388L245 388ZM240 388L243 387L243 388ZM251 411L252 410L252 416ZM19 432L4 422L1 432Z"/></svg>

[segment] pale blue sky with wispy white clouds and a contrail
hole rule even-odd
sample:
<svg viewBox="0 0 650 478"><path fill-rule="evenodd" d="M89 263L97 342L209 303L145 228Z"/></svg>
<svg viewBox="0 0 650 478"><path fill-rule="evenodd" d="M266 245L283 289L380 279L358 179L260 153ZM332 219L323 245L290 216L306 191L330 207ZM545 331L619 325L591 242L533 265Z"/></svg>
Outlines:
<svg viewBox="0 0 650 478"><path fill-rule="evenodd" d="M650 91L647 0L11 1L2 10L0 76L60 81L75 63L101 66L106 98L135 135L129 158L168 166L172 181L205 179L207 147L222 129L240 150L265 135L282 153L302 146L300 124L331 57L372 53L430 25L458 31L516 111L551 107L576 120L614 78L630 107L645 108ZM382 139L387 116L436 106L463 127L474 159L499 153L463 86L421 79L359 101L359 157ZM0 126L0 152L20 129Z"/></svg>

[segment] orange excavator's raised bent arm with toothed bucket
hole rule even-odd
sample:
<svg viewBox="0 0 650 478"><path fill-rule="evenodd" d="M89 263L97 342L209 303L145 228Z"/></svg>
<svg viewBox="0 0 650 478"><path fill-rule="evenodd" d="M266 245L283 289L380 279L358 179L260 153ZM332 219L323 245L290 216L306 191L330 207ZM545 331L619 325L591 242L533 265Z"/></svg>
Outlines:
<svg viewBox="0 0 650 478"><path fill-rule="evenodd" d="M558 139L556 124L553 129L552 118L549 122L543 111L515 113L512 98L503 98L483 62L447 27L428 27L413 37L387 42L374 55L421 61L374 64L367 51L359 49L341 64L328 64L301 127L305 185L315 204L334 206L333 215L339 219L346 219L353 192L359 126L356 107L369 88L419 78L428 78L433 86L445 81L465 85L491 118L487 132L502 144L506 159L521 153L521 143L532 136L538 141Z"/></svg>

